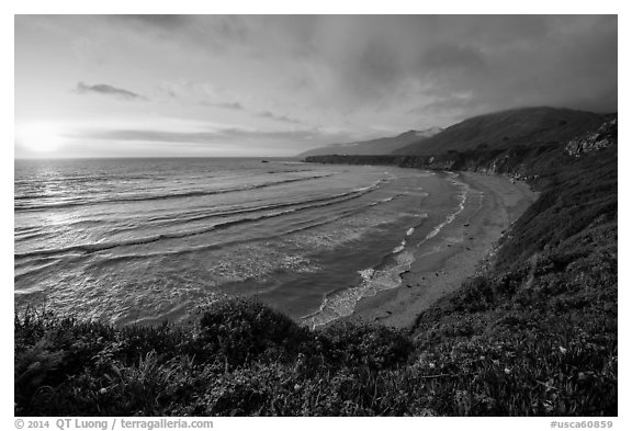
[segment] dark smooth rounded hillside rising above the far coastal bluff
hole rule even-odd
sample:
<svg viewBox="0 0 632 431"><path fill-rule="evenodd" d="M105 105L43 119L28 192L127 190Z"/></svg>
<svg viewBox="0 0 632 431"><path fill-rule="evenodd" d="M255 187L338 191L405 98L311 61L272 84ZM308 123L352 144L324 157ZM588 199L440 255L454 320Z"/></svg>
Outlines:
<svg viewBox="0 0 632 431"><path fill-rule="evenodd" d="M552 145L594 131L603 122L591 112L524 107L475 116L393 154L432 156L470 149L506 149L520 145Z"/></svg>

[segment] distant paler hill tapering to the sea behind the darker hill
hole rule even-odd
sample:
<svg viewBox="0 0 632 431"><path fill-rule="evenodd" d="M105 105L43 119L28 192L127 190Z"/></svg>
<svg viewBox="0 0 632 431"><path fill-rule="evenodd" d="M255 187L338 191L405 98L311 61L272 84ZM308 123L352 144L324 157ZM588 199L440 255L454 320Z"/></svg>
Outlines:
<svg viewBox="0 0 632 431"><path fill-rule="evenodd" d="M408 131L397 136L362 140L348 144L332 144L300 154L297 157L323 155L386 155L413 143L419 143L441 132L439 127L425 131Z"/></svg>

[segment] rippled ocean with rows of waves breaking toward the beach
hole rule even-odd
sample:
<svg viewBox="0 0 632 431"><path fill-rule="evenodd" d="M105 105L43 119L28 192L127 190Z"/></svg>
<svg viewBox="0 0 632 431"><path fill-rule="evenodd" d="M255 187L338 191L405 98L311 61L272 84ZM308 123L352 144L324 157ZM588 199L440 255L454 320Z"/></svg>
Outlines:
<svg viewBox="0 0 632 431"><path fill-rule="evenodd" d="M454 174L283 159L15 160L14 300L115 325L250 297L315 327L396 288Z"/></svg>

